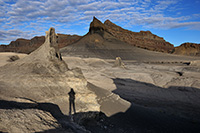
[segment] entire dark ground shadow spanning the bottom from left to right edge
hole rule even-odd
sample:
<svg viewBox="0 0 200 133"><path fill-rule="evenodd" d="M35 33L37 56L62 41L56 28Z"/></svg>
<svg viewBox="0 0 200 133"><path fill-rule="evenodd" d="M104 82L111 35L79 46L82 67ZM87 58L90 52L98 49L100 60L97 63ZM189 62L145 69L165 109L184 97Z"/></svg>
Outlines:
<svg viewBox="0 0 200 133"><path fill-rule="evenodd" d="M61 112L58 105L52 103L19 103L0 100L0 109L40 109L50 112L61 127L44 131L48 133L69 131L196 133L200 131L199 119L193 119L194 117L199 118L199 89L187 87L161 88L132 79L113 79L113 81L117 86L117 89L113 92L130 101L131 107L126 112L117 113L111 117L107 117L102 112L79 112L73 115L72 122L69 116ZM170 99L170 96L175 97L175 99ZM181 115L171 114L170 109L174 112L183 110L183 114L189 114L189 118L182 117L182 113L180 113Z"/></svg>

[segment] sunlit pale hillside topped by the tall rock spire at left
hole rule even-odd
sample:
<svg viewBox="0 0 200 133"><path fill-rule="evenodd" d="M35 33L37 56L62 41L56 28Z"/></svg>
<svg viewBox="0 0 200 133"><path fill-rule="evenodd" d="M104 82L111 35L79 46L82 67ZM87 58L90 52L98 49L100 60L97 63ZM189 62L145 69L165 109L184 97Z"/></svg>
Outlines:
<svg viewBox="0 0 200 133"><path fill-rule="evenodd" d="M87 88L79 68L69 69L62 60L55 29L46 32L45 42L29 56L3 66L1 97L28 98L58 104L68 113L68 92L76 92L77 111L100 111L96 95Z"/></svg>

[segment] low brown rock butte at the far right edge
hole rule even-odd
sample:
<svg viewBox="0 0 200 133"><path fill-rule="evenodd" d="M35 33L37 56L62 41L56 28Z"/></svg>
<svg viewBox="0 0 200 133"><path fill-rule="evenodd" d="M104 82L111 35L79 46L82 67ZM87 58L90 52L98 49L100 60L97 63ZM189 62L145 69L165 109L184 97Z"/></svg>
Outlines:
<svg viewBox="0 0 200 133"><path fill-rule="evenodd" d="M183 43L180 46L175 47L173 53L179 55L200 56L200 44Z"/></svg>

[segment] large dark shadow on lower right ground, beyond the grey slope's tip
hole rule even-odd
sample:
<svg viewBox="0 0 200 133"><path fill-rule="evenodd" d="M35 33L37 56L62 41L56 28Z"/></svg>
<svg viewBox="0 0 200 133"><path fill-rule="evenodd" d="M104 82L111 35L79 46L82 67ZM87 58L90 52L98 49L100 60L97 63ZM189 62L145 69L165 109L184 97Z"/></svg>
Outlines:
<svg viewBox="0 0 200 133"><path fill-rule="evenodd" d="M113 124L126 127L125 132L200 131L198 88L161 88L132 79L113 81L117 87L113 93L132 103L125 113L109 118Z"/></svg>

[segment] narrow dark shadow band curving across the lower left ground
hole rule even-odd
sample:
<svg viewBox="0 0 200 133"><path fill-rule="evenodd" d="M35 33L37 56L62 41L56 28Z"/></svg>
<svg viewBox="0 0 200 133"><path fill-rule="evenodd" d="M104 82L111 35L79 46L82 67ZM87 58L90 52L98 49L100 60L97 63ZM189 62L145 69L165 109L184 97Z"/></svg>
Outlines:
<svg viewBox="0 0 200 133"><path fill-rule="evenodd" d="M81 127L73 123L69 116L64 115L59 106L53 103L22 103L15 101L0 100L0 109L38 109L49 112L60 124L60 127L43 132L57 133L57 132L83 132Z"/></svg>

